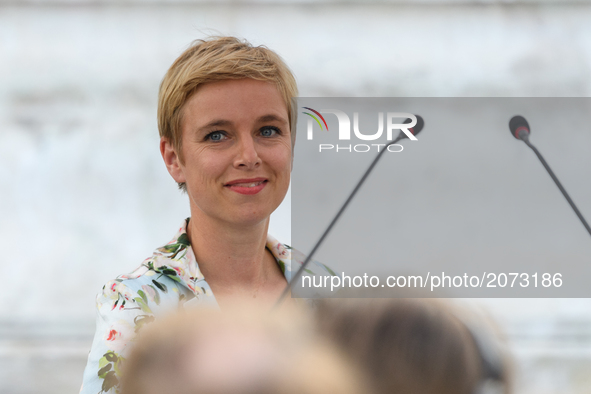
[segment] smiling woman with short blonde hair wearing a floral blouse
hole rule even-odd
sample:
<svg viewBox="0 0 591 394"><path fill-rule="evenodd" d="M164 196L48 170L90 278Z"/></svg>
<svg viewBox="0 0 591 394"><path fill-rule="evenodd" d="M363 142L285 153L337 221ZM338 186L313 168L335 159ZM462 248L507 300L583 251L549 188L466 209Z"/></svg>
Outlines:
<svg viewBox="0 0 591 394"><path fill-rule="evenodd" d="M267 230L289 187L296 95L276 53L234 37L197 40L172 64L158 99L160 153L191 217L98 294L82 393L117 392L137 333L184 303L270 307L285 289L299 265Z"/></svg>

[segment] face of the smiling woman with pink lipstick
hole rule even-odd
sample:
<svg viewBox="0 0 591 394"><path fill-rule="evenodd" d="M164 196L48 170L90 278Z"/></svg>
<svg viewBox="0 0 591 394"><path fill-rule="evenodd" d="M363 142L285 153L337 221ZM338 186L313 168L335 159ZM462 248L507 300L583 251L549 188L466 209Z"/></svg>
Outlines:
<svg viewBox="0 0 591 394"><path fill-rule="evenodd" d="M292 149L287 107L274 84L204 84L185 104L182 138L175 180L186 183L193 216L252 225L283 201Z"/></svg>

